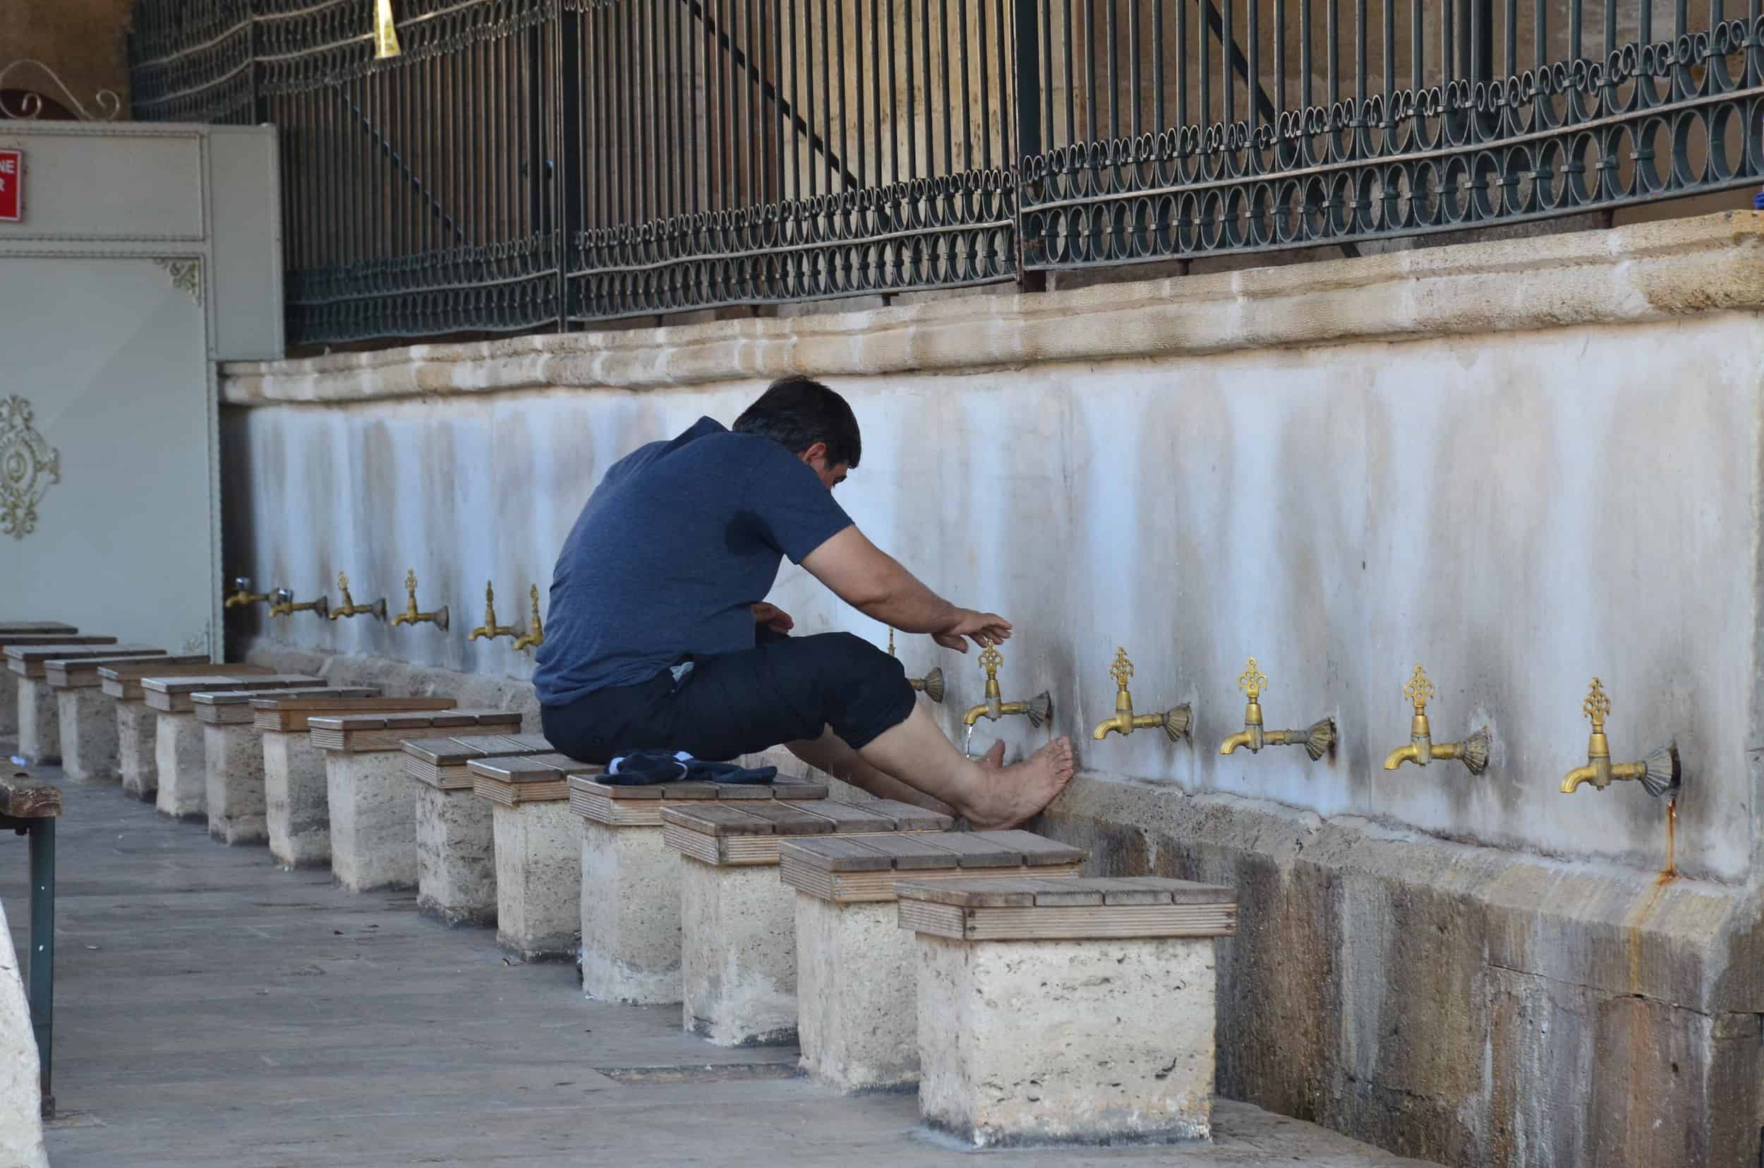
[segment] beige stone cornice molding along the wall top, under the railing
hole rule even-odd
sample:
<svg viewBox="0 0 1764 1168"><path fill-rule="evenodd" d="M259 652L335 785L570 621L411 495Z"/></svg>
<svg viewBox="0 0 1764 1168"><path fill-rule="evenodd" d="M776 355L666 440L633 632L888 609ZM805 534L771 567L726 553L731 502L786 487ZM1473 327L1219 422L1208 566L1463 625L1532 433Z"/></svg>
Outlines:
<svg viewBox="0 0 1764 1168"><path fill-rule="evenodd" d="M1764 213L789 319L231 362L235 406L972 372L1764 309Z"/></svg>

